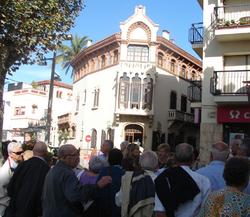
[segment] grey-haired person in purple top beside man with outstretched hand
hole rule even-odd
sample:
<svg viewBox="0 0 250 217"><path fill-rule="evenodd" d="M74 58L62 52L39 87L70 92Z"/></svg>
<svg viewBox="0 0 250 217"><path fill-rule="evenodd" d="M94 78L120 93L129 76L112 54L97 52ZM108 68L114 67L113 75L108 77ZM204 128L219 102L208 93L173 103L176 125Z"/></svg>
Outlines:
<svg viewBox="0 0 250 217"><path fill-rule="evenodd" d="M100 170L107 166L107 162L98 156L93 156L89 160L89 170L85 170L80 178L79 182L82 185L85 184L95 184Z"/></svg>

